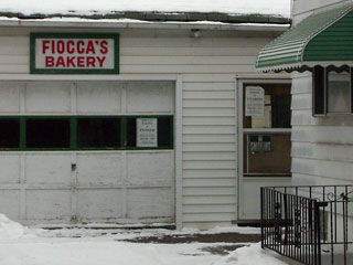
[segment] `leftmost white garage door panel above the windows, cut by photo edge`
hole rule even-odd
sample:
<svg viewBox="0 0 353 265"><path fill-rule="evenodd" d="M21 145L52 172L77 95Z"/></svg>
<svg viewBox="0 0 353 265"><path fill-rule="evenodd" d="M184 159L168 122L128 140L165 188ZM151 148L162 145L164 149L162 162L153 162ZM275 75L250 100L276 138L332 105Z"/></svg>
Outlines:
<svg viewBox="0 0 353 265"><path fill-rule="evenodd" d="M0 113L20 112L20 89L24 88L24 83L0 82Z"/></svg>

